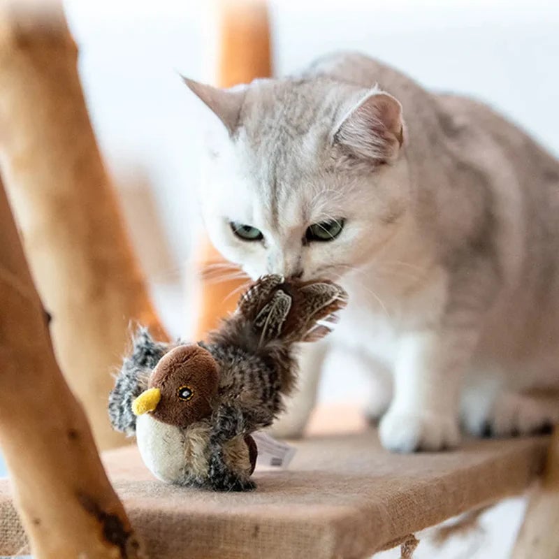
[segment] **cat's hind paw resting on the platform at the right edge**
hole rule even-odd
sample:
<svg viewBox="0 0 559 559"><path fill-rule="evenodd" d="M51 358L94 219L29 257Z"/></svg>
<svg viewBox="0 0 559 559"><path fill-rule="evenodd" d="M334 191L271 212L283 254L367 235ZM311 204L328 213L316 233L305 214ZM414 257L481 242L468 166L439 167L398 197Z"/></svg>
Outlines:
<svg viewBox="0 0 559 559"><path fill-rule="evenodd" d="M549 433L559 421L559 407L537 398L516 393L498 396L486 409L466 409L466 430L479 437L516 437Z"/></svg>

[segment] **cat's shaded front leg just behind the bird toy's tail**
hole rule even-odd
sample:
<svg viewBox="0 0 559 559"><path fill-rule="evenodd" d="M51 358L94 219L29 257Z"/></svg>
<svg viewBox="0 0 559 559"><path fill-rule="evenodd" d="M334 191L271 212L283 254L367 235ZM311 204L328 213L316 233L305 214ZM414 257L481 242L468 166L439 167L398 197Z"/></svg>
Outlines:
<svg viewBox="0 0 559 559"><path fill-rule="evenodd" d="M300 346L296 392L286 402L286 412L270 427L270 435L286 439L303 435L303 430L317 402L317 391L327 346L326 341Z"/></svg>

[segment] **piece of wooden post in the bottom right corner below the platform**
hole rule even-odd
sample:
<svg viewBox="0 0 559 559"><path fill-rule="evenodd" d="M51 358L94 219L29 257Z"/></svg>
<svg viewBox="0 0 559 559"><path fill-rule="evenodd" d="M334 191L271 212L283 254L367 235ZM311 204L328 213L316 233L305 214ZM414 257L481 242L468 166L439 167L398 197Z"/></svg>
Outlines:
<svg viewBox="0 0 559 559"><path fill-rule="evenodd" d="M559 429L556 428L546 471L530 496L512 559L559 558Z"/></svg>

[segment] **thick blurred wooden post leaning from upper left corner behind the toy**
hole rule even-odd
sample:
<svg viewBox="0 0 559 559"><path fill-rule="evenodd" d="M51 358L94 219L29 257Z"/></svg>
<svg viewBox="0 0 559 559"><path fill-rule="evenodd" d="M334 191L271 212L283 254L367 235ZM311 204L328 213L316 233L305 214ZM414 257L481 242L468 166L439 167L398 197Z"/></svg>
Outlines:
<svg viewBox="0 0 559 559"><path fill-rule="evenodd" d="M129 324L164 333L94 138L77 55L59 3L0 2L4 182L61 369L106 449L125 441L106 406Z"/></svg>

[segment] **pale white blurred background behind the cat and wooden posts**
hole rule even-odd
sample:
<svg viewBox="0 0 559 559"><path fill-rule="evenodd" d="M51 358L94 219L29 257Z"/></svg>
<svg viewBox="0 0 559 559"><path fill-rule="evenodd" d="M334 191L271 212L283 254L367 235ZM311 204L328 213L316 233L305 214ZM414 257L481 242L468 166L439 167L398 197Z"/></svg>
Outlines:
<svg viewBox="0 0 559 559"><path fill-rule="evenodd" d="M94 129L136 252L170 333L188 335L196 320L193 262L201 224L193 192L202 119L179 74L212 81L208 3L64 4ZM425 87L490 103L559 154L556 1L271 0L270 15L277 75L326 52L360 50ZM361 372L344 368L342 386L336 373L331 363L321 400L362 402ZM481 532L458 538L437 557L504 558L523 506L519 499L501 504L484 516ZM416 556L431 553L420 546Z"/></svg>

